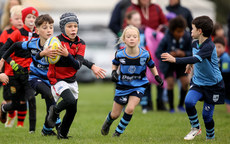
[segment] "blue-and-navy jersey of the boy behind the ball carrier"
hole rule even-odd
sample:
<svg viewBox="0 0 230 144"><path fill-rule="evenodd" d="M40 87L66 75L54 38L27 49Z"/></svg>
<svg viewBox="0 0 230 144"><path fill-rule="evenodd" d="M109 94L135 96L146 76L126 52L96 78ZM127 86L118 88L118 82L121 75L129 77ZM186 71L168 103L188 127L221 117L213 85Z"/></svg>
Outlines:
<svg viewBox="0 0 230 144"><path fill-rule="evenodd" d="M43 50L43 47L40 46L39 42L40 38L34 38L31 41L25 41L21 44L22 49L30 51L33 60L30 64L29 80L39 78L46 84L50 85L47 77L49 63L45 60L45 57L40 60L36 59L36 54Z"/></svg>

